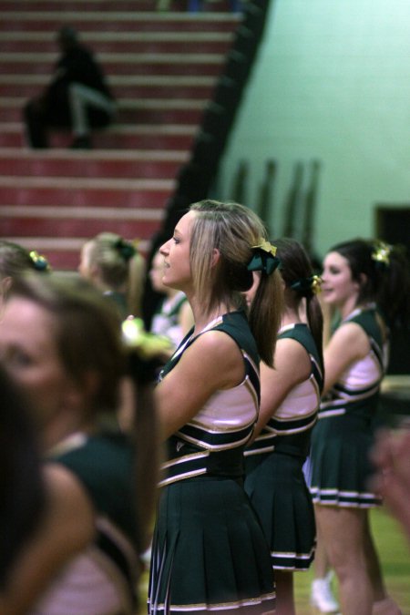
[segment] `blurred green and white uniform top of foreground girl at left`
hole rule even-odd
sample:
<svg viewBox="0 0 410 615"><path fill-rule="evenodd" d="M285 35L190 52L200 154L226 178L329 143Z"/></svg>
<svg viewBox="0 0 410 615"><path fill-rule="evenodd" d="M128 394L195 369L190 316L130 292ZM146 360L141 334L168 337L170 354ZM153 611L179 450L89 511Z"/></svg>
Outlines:
<svg viewBox="0 0 410 615"><path fill-rule="evenodd" d="M133 447L122 434L77 433L50 461L67 467L96 510L96 538L67 563L32 615L131 615L138 556Z"/></svg>

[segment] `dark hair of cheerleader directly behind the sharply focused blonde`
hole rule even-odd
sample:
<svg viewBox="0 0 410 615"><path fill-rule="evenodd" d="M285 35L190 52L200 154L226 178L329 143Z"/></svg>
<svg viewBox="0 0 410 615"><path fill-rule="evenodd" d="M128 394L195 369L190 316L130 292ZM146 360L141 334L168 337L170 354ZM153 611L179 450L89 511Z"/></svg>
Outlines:
<svg viewBox="0 0 410 615"><path fill-rule="evenodd" d="M323 364L323 314L320 302L313 290L313 266L302 244L284 237L274 240L281 261L282 279L287 289L292 290L298 305L306 300L306 317Z"/></svg>

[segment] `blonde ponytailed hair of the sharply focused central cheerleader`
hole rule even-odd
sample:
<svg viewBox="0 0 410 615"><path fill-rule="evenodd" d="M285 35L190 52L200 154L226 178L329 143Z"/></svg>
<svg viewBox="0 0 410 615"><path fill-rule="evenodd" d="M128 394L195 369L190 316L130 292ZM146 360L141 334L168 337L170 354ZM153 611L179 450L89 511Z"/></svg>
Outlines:
<svg viewBox="0 0 410 615"><path fill-rule="evenodd" d="M190 206L195 211L190 239L190 268L195 292L209 312L222 302L237 307L243 303L241 292L251 288L248 263L252 246L267 239L263 222L239 203L201 200ZM214 250L220 261L212 267ZM280 274L261 274L261 283L251 304L249 322L262 361L272 365L272 357L282 316Z"/></svg>

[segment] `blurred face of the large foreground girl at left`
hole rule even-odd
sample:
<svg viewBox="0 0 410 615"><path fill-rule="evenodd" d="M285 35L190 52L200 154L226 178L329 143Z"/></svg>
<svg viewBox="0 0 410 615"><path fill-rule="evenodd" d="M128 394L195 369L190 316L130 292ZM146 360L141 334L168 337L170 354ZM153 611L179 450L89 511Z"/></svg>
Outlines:
<svg viewBox="0 0 410 615"><path fill-rule="evenodd" d="M0 360L28 398L37 427L64 407L73 384L59 357L54 316L23 297L5 303Z"/></svg>

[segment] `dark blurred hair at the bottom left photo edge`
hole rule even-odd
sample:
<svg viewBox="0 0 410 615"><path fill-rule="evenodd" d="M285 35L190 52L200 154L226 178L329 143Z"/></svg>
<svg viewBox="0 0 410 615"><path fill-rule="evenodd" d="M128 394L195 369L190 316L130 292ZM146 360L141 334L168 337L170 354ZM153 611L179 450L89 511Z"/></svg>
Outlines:
<svg viewBox="0 0 410 615"><path fill-rule="evenodd" d="M0 589L35 530L44 485L34 430L15 384L0 367Z"/></svg>

